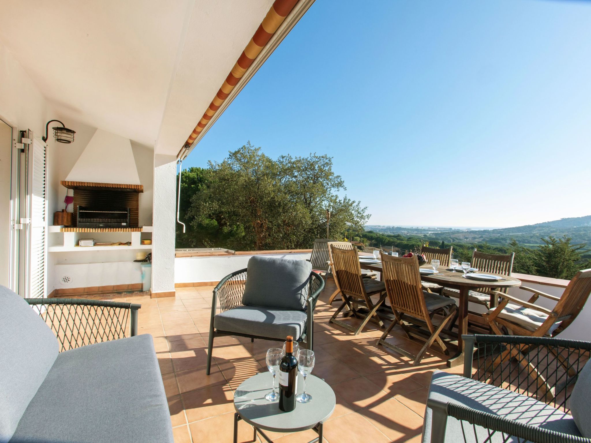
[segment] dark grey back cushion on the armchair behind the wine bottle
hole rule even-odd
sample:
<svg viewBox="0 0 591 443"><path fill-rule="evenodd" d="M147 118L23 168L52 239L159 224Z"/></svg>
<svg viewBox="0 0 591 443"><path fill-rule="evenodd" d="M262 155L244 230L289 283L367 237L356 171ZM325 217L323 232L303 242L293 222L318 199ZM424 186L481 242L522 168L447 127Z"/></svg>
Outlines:
<svg viewBox="0 0 591 443"><path fill-rule="evenodd" d="M248 260L242 304L304 310L312 263L306 260L253 256Z"/></svg>

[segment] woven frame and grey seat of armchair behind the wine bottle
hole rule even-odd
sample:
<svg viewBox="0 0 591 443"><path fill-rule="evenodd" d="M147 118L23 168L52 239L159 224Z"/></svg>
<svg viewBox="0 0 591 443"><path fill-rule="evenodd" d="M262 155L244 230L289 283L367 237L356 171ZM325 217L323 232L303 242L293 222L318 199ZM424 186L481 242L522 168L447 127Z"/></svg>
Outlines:
<svg viewBox="0 0 591 443"><path fill-rule="evenodd" d="M209 327L209 344L207 346L207 375L212 364L213 338L221 335L238 335L262 340L281 340L285 337L285 327L294 324L302 324L301 333L294 338L303 343L307 349L312 349L314 308L322 289L324 279L316 272L310 273L306 310L265 310L263 308L246 307L251 309L251 315L255 314L259 320L250 320L242 327L238 327L238 321L226 320L225 327L216 327L216 314L228 312L234 308L245 307L242 304L242 295L246 286L246 268L226 275L213 289L212 316ZM219 324L220 322L218 322ZM249 332L246 332L248 330Z"/></svg>

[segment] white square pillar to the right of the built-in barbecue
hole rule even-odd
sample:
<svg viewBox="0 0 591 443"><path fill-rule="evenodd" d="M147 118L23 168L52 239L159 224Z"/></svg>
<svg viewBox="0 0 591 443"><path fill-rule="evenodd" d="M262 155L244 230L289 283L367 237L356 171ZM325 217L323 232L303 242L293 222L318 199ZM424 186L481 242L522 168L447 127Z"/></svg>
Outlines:
<svg viewBox="0 0 591 443"><path fill-rule="evenodd" d="M174 232L176 223L177 159L154 155L152 216L152 298L174 297Z"/></svg>

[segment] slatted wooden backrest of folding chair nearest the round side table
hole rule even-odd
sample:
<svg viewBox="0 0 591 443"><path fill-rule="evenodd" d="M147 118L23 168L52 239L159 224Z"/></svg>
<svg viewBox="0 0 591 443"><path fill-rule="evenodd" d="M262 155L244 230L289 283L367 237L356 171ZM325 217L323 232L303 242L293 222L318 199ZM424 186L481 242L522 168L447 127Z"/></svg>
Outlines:
<svg viewBox="0 0 591 443"><path fill-rule="evenodd" d="M382 254L382 269L382 281L392 310L430 323L417 258Z"/></svg>

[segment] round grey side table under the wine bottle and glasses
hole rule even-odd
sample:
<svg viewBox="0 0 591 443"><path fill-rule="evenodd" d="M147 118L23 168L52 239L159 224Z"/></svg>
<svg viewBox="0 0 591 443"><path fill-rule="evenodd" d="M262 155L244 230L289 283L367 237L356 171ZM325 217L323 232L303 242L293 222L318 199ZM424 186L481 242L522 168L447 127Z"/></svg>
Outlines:
<svg viewBox="0 0 591 443"><path fill-rule="evenodd" d="M311 442L322 443L322 425L335 411L335 393L327 383L313 375L307 376L306 392L312 396L309 403L297 403L296 409L283 412L279 402L268 402L265 394L272 389L270 372L256 374L242 382L234 394L234 443L238 441L238 422L244 420L254 427L254 439L258 432L272 443L264 431L298 432L314 429L318 437ZM304 378L298 373L297 393L303 392ZM277 388L276 388L277 389Z"/></svg>

